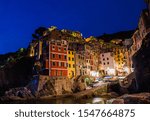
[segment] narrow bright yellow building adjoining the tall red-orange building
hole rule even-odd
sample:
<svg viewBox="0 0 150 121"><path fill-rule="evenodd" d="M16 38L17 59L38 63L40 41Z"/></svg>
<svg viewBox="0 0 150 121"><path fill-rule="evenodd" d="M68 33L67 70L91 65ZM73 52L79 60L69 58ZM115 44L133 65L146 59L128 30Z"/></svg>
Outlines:
<svg viewBox="0 0 150 121"><path fill-rule="evenodd" d="M75 58L74 58L74 51L68 50L68 78L73 78L76 76L75 74Z"/></svg>

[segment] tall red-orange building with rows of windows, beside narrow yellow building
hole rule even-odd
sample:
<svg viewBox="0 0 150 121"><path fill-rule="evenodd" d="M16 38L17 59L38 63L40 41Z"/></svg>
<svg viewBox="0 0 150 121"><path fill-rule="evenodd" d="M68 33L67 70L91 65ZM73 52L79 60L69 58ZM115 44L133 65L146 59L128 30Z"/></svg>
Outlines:
<svg viewBox="0 0 150 121"><path fill-rule="evenodd" d="M49 76L67 77L67 42L65 40L50 42L49 48Z"/></svg>

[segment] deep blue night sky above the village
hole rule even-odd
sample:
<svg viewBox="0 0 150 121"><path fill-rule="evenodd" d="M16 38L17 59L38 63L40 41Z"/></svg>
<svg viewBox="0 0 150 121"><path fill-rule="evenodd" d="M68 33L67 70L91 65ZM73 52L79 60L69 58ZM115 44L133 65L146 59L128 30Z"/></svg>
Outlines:
<svg viewBox="0 0 150 121"><path fill-rule="evenodd" d="M83 36L135 29L144 0L0 0L0 54L27 47L39 26Z"/></svg>

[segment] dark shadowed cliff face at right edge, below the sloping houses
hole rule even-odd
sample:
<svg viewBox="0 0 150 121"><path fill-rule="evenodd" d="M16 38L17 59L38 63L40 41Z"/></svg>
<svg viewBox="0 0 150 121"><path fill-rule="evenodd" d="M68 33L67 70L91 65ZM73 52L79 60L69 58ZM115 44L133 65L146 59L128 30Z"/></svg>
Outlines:
<svg viewBox="0 0 150 121"><path fill-rule="evenodd" d="M133 56L137 91L150 92L150 34L143 40L141 49Z"/></svg>

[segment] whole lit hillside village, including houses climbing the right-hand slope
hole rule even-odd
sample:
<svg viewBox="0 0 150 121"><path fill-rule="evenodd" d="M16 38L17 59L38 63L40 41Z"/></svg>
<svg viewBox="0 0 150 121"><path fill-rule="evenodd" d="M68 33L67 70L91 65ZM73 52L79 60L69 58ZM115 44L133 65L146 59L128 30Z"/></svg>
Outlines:
<svg viewBox="0 0 150 121"><path fill-rule="evenodd" d="M77 31L48 28L30 44L38 73L50 77L75 78L127 76L134 71L132 57L150 33L150 13L143 10L136 31L83 38Z"/></svg>

